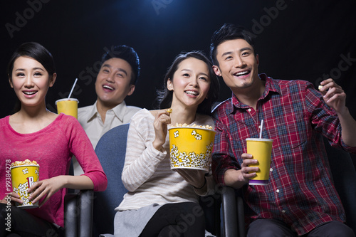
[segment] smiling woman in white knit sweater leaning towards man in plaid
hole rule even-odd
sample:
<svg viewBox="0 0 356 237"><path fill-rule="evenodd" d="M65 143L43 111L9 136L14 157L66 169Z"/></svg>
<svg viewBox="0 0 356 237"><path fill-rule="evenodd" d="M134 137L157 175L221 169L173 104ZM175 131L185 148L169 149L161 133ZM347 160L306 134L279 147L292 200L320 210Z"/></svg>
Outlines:
<svg viewBox="0 0 356 237"><path fill-rule="evenodd" d="M164 77L160 110L131 119L122 182L128 192L115 216L115 236L204 236L199 196L214 192L211 175L169 165L167 129L177 122L211 125L219 81L200 52L180 54ZM167 112L172 109L172 113Z"/></svg>

